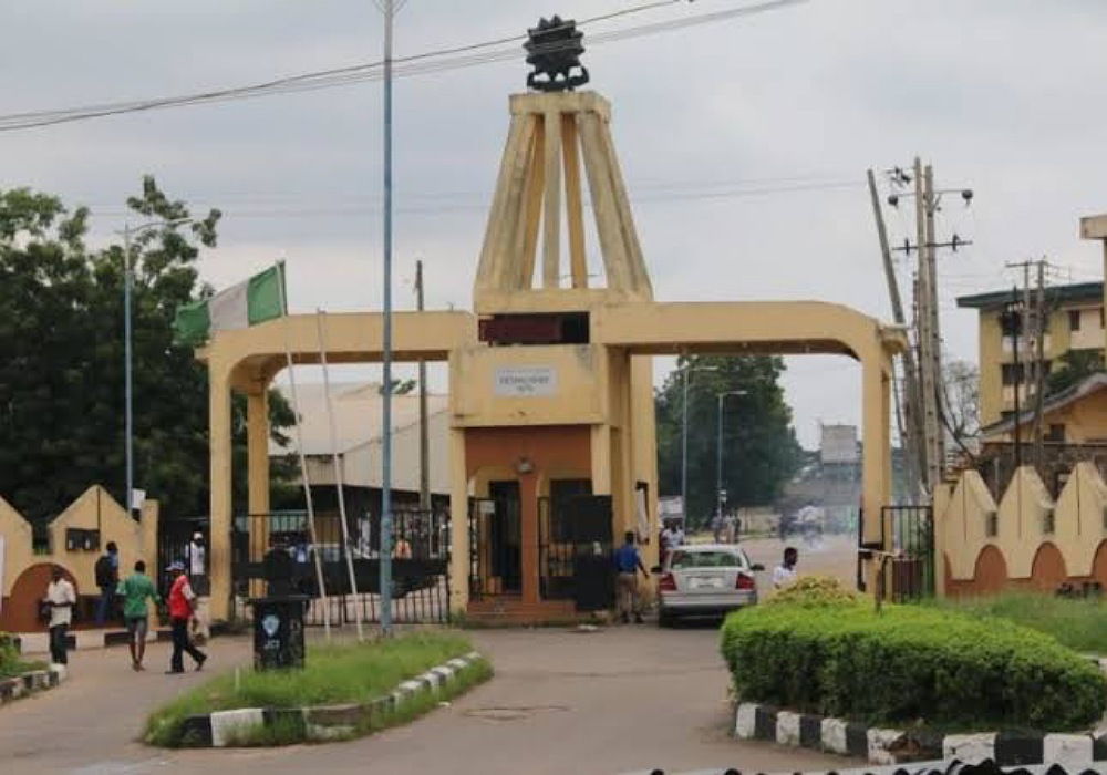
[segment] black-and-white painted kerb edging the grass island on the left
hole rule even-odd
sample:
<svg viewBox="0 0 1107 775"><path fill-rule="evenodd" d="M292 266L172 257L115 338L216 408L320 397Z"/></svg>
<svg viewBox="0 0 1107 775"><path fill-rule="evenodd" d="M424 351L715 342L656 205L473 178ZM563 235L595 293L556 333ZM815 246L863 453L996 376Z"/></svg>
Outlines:
<svg viewBox="0 0 1107 775"><path fill-rule="evenodd" d="M479 653L469 652L465 657L449 660L445 665L432 668L415 679L404 681L390 694L366 703L290 709L240 707L188 716L184 721L184 734L193 747L221 748L234 745L249 731L272 727L291 720L302 723L308 740L313 742L346 737L375 715L418 694L438 692L459 671L482 659Z"/></svg>

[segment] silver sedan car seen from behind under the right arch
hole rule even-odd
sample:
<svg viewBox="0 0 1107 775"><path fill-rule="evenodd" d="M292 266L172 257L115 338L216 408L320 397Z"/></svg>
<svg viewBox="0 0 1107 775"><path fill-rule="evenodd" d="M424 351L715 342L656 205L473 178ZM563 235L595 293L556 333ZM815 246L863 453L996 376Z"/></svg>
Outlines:
<svg viewBox="0 0 1107 775"><path fill-rule="evenodd" d="M680 617L722 616L757 602L754 574L765 567L749 561L731 544L680 546L670 554L658 580L658 623Z"/></svg>

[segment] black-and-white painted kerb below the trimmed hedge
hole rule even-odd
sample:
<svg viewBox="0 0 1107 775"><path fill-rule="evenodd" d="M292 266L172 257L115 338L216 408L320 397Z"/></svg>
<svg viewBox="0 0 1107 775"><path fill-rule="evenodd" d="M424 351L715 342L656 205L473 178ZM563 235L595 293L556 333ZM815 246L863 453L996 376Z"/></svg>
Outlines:
<svg viewBox="0 0 1107 775"><path fill-rule="evenodd" d="M1059 764L1086 766L1107 762L1107 734L981 733L920 735L901 730L866 727L841 719L823 719L779 711L756 703L741 703L735 711L734 734L739 740L763 740L894 765L945 758L1000 766Z"/></svg>

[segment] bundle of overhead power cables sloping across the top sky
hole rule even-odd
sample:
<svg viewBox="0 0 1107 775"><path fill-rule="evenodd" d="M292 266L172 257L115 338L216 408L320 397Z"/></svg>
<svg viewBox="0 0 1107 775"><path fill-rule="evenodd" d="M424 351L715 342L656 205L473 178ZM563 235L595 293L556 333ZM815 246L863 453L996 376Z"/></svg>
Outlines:
<svg viewBox="0 0 1107 775"><path fill-rule="evenodd" d="M681 0L662 0L659 2L643 3L632 8L623 9L599 17L592 17L578 22L578 25L586 25L608 21L617 17L640 13L655 10L658 8L675 4ZM637 27L628 27L620 30L601 32L589 37L589 45L600 45L609 42L630 40L649 34L683 30L691 27L713 24L747 16L766 13L783 10L793 6L810 2L810 0L766 0L765 2L743 6L726 11L715 11L702 13L685 19L671 19ZM461 68L476 66L492 62L516 59L519 55L518 43L526 35L511 35L496 40L473 43L468 45L437 49L433 51L399 56L393 59L394 75L406 78L414 75L425 75L431 73L456 70ZM506 44L511 48L501 48ZM541 51L558 51L566 46L565 42L557 42L542 46ZM487 51L486 51L487 50ZM479 52L479 53L474 53ZM11 113L0 115L0 132L13 132L18 130L39 128L66 124L92 118L103 118L128 113L139 113L146 111L164 110L168 107L184 107L199 104L217 104L223 102L271 96L275 94L293 94L301 92L318 91L322 89L334 89L339 86L352 85L377 81L383 78L383 60L365 62L328 70L298 73L269 81L225 89L215 89L190 94L155 97L151 100L133 100L122 102L110 102L77 107L68 107L50 111L31 111L22 113Z"/></svg>

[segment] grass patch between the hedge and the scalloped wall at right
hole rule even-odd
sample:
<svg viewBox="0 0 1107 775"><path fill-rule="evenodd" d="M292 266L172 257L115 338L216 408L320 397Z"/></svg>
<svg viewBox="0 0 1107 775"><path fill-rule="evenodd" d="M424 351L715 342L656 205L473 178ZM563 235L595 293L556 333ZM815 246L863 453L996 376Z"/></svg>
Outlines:
<svg viewBox="0 0 1107 775"><path fill-rule="evenodd" d="M1107 655L1107 600L1008 592L991 597L937 601L981 617L1000 617L1046 632L1080 653Z"/></svg>

